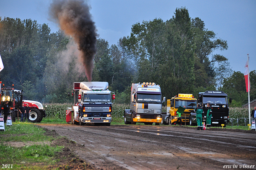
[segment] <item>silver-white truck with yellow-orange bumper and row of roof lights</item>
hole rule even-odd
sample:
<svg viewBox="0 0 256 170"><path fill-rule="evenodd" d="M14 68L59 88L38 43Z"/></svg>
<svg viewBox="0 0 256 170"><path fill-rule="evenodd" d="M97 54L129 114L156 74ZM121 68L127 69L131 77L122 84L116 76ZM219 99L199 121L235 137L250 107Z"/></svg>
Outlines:
<svg viewBox="0 0 256 170"><path fill-rule="evenodd" d="M143 122L146 125L160 125L162 122L162 93L155 83L132 84L130 109L124 110L124 124Z"/></svg>

